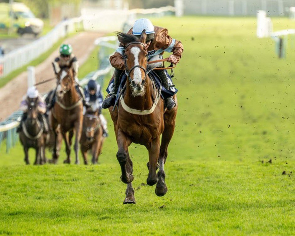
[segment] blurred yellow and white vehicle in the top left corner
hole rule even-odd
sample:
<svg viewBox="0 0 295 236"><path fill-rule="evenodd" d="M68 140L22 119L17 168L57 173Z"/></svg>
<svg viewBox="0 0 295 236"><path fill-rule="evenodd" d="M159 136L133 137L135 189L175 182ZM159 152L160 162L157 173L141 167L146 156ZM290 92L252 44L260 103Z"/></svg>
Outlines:
<svg viewBox="0 0 295 236"><path fill-rule="evenodd" d="M0 29L8 29L11 26L20 35L37 36L42 32L44 23L36 18L24 3L13 3L12 11L8 3L0 3Z"/></svg>

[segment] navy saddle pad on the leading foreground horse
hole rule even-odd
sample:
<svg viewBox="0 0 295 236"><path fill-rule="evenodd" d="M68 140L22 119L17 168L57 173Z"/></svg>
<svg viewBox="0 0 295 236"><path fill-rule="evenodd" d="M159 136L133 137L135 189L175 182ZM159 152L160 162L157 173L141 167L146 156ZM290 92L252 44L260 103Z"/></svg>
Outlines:
<svg viewBox="0 0 295 236"><path fill-rule="evenodd" d="M166 88L164 88L162 86L161 97L163 99L166 99L167 97L172 97L174 94L176 94L176 92L178 92L178 90L173 85L171 76L168 74L168 72L166 70L165 70L165 73L166 73L166 76L168 78L168 85L171 86L171 87L169 88L169 90L167 90ZM159 88L161 86L161 80L159 79L157 74L154 71L150 71L149 77L150 77L151 80L153 80L155 82L155 86L159 90ZM126 78L127 78L127 76L122 73L122 76L119 79L120 80L120 85L119 85L119 89L118 89L118 92L117 92L116 102L119 99L119 93L120 93L121 89L124 87L124 85L126 83ZM109 83L109 85L108 85L108 87L106 89L106 91L108 93L113 91L113 86L114 86L113 84L114 84L114 79Z"/></svg>

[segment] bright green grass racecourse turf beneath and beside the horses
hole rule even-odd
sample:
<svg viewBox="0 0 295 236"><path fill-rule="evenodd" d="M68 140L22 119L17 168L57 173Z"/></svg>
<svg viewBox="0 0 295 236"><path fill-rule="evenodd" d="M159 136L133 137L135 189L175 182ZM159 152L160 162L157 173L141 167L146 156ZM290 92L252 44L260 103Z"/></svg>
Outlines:
<svg viewBox="0 0 295 236"><path fill-rule="evenodd" d="M9 154L2 144L0 235L295 234L294 42L279 60L271 39L256 38L255 18L153 23L185 48L175 69L179 108L167 194L157 197L155 186L142 184L148 155L133 144L137 203L122 204L126 186L104 111L110 135L100 165L61 164L62 152L59 165L26 166L19 144ZM287 18L273 23L274 30L295 27Z"/></svg>

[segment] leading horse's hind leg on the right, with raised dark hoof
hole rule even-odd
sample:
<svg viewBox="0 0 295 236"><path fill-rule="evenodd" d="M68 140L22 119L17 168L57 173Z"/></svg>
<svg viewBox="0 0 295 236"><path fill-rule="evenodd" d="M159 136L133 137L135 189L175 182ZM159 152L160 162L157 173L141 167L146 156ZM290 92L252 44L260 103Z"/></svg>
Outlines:
<svg viewBox="0 0 295 236"><path fill-rule="evenodd" d="M159 155L159 171L158 171L158 182L155 188L155 194L159 197L162 197L168 191L166 183L165 183L165 171L164 164L168 155L168 145L171 141L172 135L174 133L175 128L175 118L176 118L176 110L171 110L168 113L164 114L164 124L165 128L162 134L162 141L160 146L160 155Z"/></svg>

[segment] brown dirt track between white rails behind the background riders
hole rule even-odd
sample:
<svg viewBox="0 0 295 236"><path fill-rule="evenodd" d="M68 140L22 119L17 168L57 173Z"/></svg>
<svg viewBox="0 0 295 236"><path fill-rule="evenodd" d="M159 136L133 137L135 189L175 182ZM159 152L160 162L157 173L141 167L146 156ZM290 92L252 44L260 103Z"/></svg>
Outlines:
<svg viewBox="0 0 295 236"><path fill-rule="evenodd" d="M89 54L94 48L94 40L100 37L99 33L82 32L66 39L64 43L73 46L74 53L77 56L80 66L87 60ZM58 55L58 52L52 53L43 63L35 67L36 82L40 82L54 77L51 62ZM89 71L90 72L90 71ZM37 86L41 93L47 92L55 86L55 81L50 81L43 85ZM27 71L8 82L0 89L0 121L7 118L13 111L16 111L27 91Z"/></svg>

